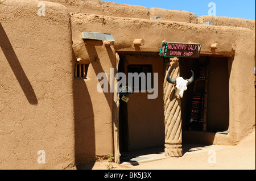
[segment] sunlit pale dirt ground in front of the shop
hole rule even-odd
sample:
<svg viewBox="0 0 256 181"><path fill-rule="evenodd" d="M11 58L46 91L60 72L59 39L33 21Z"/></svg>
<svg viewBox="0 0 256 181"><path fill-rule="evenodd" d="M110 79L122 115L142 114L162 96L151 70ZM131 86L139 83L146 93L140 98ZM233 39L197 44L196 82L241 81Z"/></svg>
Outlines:
<svg viewBox="0 0 256 181"><path fill-rule="evenodd" d="M214 150L214 146L212 147ZM92 170L255 170L255 131L236 146L222 146L214 150L216 159L209 149L185 153L179 158L165 158L137 165L118 165L107 160L94 163Z"/></svg>

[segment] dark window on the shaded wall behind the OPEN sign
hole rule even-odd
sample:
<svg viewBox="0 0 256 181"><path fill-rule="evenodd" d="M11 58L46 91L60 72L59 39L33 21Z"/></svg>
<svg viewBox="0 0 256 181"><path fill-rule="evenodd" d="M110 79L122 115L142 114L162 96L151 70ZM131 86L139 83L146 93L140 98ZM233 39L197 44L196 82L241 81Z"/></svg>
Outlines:
<svg viewBox="0 0 256 181"><path fill-rule="evenodd" d="M153 82L152 82L152 65L128 65L127 66L127 71L128 71L128 74L129 73L143 73L142 76L145 76L145 81L142 82L142 78L139 77L139 86L136 86L134 84L135 82L135 79L133 77L133 91L134 90L147 90L147 79L150 78L150 81L151 81L151 87L150 89L152 89L152 85L153 85ZM150 73L150 77L147 77L147 73ZM129 75L128 75L129 76Z"/></svg>

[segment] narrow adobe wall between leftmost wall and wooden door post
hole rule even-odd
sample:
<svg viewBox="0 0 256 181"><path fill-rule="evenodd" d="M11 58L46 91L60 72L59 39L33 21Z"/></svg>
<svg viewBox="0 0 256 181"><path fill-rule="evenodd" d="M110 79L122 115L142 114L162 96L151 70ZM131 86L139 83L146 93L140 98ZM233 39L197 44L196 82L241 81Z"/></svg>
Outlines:
<svg viewBox="0 0 256 181"><path fill-rule="evenodd" d="M81 33L78 28L73 28L72 34L73 43L76 45L76 38ZM89 63L89 68L86 79L73 79L77 164L113 155L113 93L97 91L100 82L97 75L106 73L110 79L110 68L115 65L115 54L112 48L104 45L85 46L82 43L81 46L84 46L84 54L88 55L80 56L81 63Z"/></svg>

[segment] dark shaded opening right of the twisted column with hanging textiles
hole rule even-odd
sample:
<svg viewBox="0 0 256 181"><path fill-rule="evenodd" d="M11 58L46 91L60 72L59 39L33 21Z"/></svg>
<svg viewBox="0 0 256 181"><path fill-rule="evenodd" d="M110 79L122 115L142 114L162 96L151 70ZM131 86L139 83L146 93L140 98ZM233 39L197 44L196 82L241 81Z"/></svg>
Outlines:
<svg viewBox="0 0 256 181"><path fill-rule="evenodd" d="M226 57L181 58L180 76L195 80L181 99L185 131L223 132L229 128L229 59Z"/></svg>

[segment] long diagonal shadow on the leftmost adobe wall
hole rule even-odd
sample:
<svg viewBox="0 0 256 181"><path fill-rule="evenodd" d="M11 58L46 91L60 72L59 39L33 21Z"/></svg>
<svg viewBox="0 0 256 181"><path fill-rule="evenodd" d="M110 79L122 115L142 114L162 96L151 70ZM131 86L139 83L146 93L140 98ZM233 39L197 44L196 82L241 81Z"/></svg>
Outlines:
<svg viewBox="0 0 256 181"><path fill-rule="evenodd" d="M0 23L0 47L5 54L5 57L13 70L13 73L19 82L20 87L22 88L26 98L30 104L38 104L38 99L36 98L35 92L31 86L30 81L28 80L22 66L19 63L18 57L16 56L13 46L6 35L5 30Z"/></svg>

